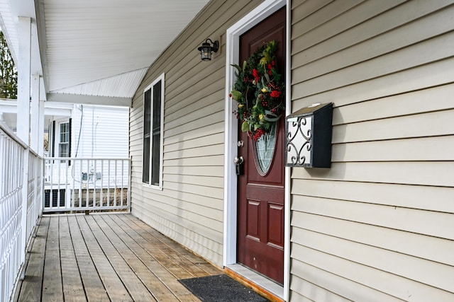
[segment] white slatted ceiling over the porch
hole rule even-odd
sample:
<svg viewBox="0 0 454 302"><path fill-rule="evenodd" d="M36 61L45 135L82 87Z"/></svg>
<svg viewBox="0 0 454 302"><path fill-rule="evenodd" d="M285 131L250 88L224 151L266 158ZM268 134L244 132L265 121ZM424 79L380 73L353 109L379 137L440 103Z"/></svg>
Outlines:
<svg viewBox="0 0 454 302"><path fill-rule="evenodd" d="M0 25L17 59L17 17L35 12L49 100L77 103L80 95L84 103L118 98L113 105L126 105L150 64L208 1L0 0Z"/></svg>

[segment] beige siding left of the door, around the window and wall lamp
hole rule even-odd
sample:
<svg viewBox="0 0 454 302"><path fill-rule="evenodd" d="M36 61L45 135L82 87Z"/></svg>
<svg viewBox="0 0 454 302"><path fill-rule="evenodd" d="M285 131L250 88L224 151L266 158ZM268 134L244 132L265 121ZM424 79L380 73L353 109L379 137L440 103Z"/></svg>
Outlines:
<svg viewBox="0 0 454 302"><path fill-rule="evenodd" d="M211 1L161 54L130 112L132 214L216 265L223 252L226 29L261 1ZM196 50L219 40L211 62ZM142 184L143 90L165 72L163 190Z"/></svg>

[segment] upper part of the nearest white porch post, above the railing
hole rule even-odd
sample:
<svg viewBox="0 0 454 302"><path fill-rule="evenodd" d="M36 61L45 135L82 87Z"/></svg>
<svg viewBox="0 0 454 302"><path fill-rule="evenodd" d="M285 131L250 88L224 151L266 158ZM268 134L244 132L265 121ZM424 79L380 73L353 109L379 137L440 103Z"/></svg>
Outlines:
<svg viewBox="0 0 454 302"><path fill-rule="evenodd" d="M19 17L18 37L17 135L24 143L28 144L28 131L30 128L31 18Z"/></svg>

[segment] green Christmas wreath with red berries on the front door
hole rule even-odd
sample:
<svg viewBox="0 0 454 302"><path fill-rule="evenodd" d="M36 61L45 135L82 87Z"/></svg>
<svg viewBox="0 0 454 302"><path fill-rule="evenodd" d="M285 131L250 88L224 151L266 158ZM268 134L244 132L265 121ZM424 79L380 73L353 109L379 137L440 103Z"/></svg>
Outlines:
<svg viewBox="0 0 454 302"><path fill-rule="evenodd" d="M284 82L276 64L277 42L271 41L258 48L237 71L236 82L230 93L238 103L233 111L241 120L241 130L255 141L270 131L285 108Z"/></svg>

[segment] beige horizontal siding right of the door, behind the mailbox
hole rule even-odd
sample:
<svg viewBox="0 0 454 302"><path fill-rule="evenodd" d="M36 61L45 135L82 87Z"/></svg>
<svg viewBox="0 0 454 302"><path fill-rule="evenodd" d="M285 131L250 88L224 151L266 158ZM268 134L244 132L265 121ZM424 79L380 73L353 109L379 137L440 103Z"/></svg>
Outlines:
<svg viewBox="0 0 454 302"><path fill-rule="evenodd" d="M292 1L292 110L333 102L331 169L292 170L292 301L453 301L453 1Z"/></svg>

